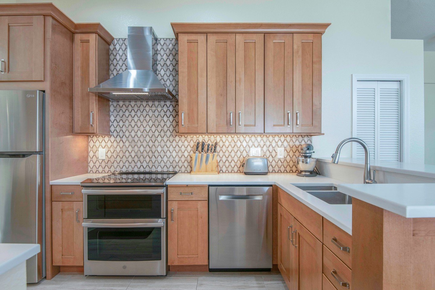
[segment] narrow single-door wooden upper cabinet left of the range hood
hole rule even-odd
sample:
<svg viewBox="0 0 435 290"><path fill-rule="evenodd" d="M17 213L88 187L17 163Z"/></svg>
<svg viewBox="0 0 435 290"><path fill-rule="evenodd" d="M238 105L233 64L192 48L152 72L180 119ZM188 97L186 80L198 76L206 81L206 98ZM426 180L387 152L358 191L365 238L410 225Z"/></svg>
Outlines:
<svg viewBox="0 0 435 290"><path fill-rule="evenodd" d="M74 133L110 135L110 101L89 93L109 79L109 45L96 33L74 34Z"/></svg>

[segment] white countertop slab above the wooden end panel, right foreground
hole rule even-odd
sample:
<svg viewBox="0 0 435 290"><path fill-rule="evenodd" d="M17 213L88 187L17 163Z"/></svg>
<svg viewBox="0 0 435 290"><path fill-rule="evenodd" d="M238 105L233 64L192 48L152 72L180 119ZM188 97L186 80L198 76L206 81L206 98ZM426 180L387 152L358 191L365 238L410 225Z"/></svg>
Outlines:
<svg viewBox="0 0 435 290"><path fill-rule="evenodd" d="M403 217L435 217L435 183L338 184L338 190Z"/></svg>

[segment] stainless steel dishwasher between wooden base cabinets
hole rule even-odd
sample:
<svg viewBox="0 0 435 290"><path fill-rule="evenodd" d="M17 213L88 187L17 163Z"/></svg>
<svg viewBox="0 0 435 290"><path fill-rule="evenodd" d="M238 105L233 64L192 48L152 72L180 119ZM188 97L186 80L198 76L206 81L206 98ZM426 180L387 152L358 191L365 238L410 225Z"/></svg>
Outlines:
<svg viewBox="0 0 435 290"><path fill-rule="evenodd" d="M210 271L270 270L272 187L209 187Z"/></svg>

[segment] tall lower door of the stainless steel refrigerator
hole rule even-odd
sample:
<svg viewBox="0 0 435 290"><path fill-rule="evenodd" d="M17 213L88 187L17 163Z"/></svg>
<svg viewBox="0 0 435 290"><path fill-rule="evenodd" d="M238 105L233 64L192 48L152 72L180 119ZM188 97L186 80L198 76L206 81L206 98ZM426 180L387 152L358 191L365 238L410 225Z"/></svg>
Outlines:
<svg viewBox="0 0 435 290"><path fill-rule="evenodd" d="M0 158L0 243L39 243L42 248L42 173L42 154ZM27 260L27 283L42 278L38 259L42 253Z"/></svg>

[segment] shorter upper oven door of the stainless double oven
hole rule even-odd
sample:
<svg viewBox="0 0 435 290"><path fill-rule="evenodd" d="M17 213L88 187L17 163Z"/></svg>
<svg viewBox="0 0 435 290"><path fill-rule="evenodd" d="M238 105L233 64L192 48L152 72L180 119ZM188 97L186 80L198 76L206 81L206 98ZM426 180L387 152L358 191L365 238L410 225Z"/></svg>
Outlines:
<svg viewBox="0 0 435 290"><path fill-rule="evenodd" d="M165 188L84 189L84 218L147 219L166 217Z"/></svg>

